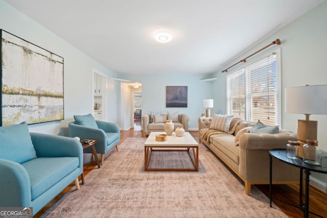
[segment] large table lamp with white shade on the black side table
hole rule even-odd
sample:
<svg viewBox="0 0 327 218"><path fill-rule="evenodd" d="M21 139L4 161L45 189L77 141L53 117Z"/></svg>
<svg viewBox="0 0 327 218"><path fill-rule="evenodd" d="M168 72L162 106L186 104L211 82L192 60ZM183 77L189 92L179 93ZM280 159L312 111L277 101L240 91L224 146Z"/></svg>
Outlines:
<svg viewBox="0 0 327 218"><path fill-rule="evenodd" d="M297 139L300 148L307 139L317 140L316 120L310 120L311 114L327 114L327 85L298 86L285 88L285 112L301 113L306 119L297 120ZM302 157L301 151L299 156Z"/></svg>

